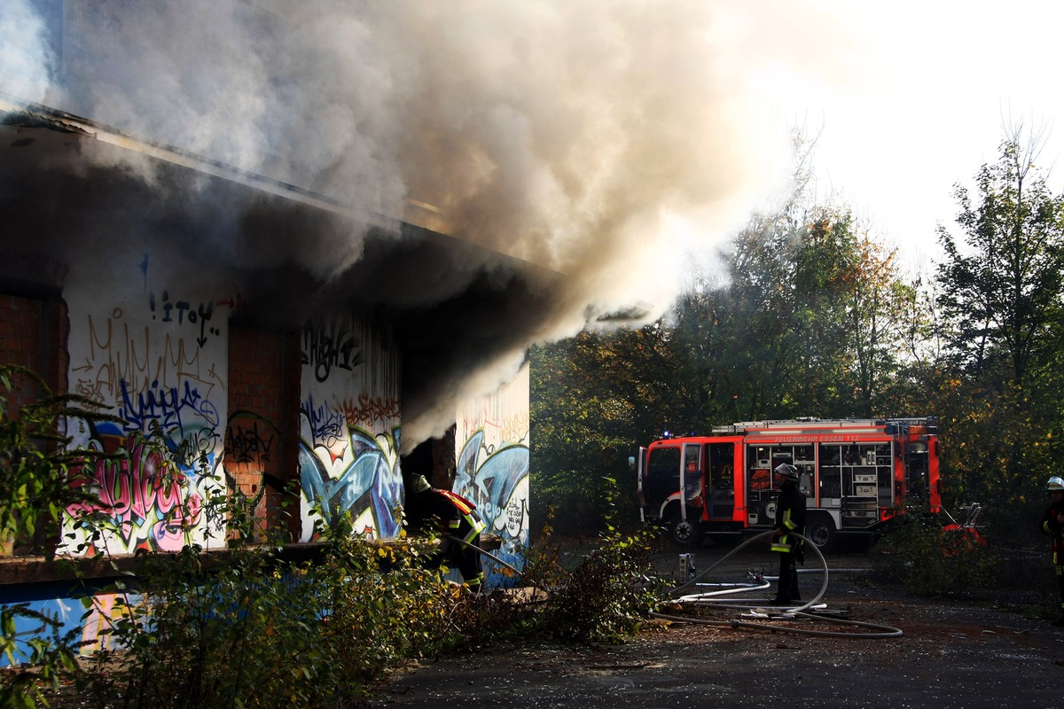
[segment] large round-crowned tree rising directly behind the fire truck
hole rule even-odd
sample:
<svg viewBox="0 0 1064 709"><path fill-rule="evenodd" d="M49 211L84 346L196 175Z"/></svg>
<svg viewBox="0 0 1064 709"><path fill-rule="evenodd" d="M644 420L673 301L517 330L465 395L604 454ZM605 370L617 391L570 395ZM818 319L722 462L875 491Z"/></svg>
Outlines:
<svg viewBox="0 0 1064 709"><path fill-rule="evenodd" d="M696 389L691 427L795 416L897 415L914 298L894 252L846 209L759 216L736 240L722 288L684 294L669 324L676 371ZM677 409L674 415L687 410ZM678 428L687 427L677 425Z"/></svg>

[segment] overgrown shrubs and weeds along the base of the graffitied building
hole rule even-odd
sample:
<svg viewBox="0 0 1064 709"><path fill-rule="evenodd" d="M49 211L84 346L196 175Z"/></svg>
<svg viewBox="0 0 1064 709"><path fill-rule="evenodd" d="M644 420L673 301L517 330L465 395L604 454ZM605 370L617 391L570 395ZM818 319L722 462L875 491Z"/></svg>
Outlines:
<svg viewBox="0 0 1064 709"><path fill-rule="evenodd" d="M0 379L6 385L5 371ZM18 529L32 531L40 520L57 528L64 510L83 509L69 520L85 533L74 551L92 547L107 555L107 538L119 531L112 516L99 500L85 496L90 492L71 487L70 471L87 452L66 450L54 427L64 415L84 416L69 404L68 398L47 398L3 421L4 465L22 466L27 489L40 495L33 500L36 517L18 517ZM165 456L176 453L163 440L149 437L144 443L155 446L169 466L173 461ZM207 474L204 461L201 467ZM51 477L37 486L34 480L45 475ZM3 706L46 704L43 690L54 690L61 679L76 682L80 706L345 706L363 700L372 681L411 657L518 634L615 642L630 636L654 604L648 578L655 534L620 530L611 479L601 488L608 514L593 552L575 568L563 568L548 528L545 546L528 552L523 588L482 595L423 569L419 544L367 541L352 534L347 519L320 530L323 543L313 562L288 561L283 537L251 545L254 520L247 506L220 486L207 489L219 491L203 504L209 518L226 521L228 550L205 553L186 544L176 554L139 552L135 573L119 573L111 559L118 580L105 589L86 588L83 601L82 620L104 623L101 649L93 655L79 656L80 628L61 635L55 619L29 608L0 608L0 648L10 663L21 665L4 673ZM185 512L176 510L174 524L192 519ZM14 619L31 615L40 627L30 639L29 655L15 657Z"/></svg>

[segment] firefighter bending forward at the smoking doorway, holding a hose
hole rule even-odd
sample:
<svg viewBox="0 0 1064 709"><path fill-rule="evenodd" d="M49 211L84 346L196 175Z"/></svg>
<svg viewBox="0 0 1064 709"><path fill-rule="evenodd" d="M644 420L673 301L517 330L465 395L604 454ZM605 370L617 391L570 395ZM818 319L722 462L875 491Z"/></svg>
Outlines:
<svg viewBox="0 0 1064 709"><path fill-rule="evenodd" d="M476 505L450 490L437 490L429 485L425 475L415 475L409 489L415 496L419 521L430 522L442 535L439 545L425 562L426 569L452 567L462 574L462 580L473 593L480 591L484 570L480 552L469 546L481 546L480 533L486 526L477 514Z"/></svg>

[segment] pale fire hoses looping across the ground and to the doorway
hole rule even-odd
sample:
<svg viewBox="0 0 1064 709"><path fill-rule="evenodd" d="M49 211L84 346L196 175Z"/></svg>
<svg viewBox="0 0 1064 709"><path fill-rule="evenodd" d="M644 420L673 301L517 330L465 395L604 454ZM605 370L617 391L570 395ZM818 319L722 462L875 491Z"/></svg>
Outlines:
<svg viewBox="0 0 1064 709"><path fill-rule="evenodd" d="M763 539L766 539L771 534L772 534L771 530L764 531L764 533L762 533L760 535L755 535L755 536L750 537L749 539L745 540L738 546L736 546L735 548L733 548L732 551L730 551L728 554L726 554L722 557L720 557L720 559L718 559L710 568L708 568L704 571L700 572L698 575L696 575L695 577L686 580L685 583L681 584L680 586L677 586L677 587L675 587L672 589L669 589L666 592L666 596L667 596L666 601L672 601L675 603L682 603L682 604L699 605L699 606L711 606L711 607L715 607L715 608L730 608L730 609L744 609L744 610L749 610L751 608L759 608L759 606L757 604L754 604L751 600L747 600L747 602L744 603L744 604L738 604L738 603L726 604L726 603L719 603L717 601L717 598L721 598L722 596L726 596L726 595L733 595L733 594L742 593L742 592L768 589L769 586L770 586L770 584L768 584L767 581L764 583L764 584L762 584L762 585L760 585L760 586L755 586L755 587L750 587L750 586L739 587L739 586L736 586L736 587L734 587L732 589L728 589L728 590L710 591L710 592L699 593L699 594L686 594L686 595L684 595L682 592L684 590L686 590L686 589L691 589L691 588L695 587L698 584L699 579L703 578L711 571L713 571L714 569L716 569L717 567L719 567L729 557L733 556L734 554L738 553L741 550L746 548L747 546L749 546L750 544L752 544L752 543L754 543L757 541L761 541ZM809 541L809 538L805 537L805 536L803 536L803 535L799 535L799 534L796 534L796 533L793 533L793 531L788 533L788 534L795 535L795 536L797 536L797 537L799 537L799 538L801 538L801 539L803 539L805 541ZM498 563L501 563L502 565L506 567L508 569L510 569L514 573L520 575L521 577L528 578L528 576L525 574L525 572L522 572L520 569L514 567L513 564L511 564L511 563L509 563L506 561L503 561L502 559L500 559L499 557L495 556L491 552L487 552L487 551L481 548L480 546L477 546L476 544L473 544L471 542L467 542L467 541L465 541L463 539L459 539L458 537L451 537L450 535L447 535L447 537L449 537L450 539L452 539L454 541L461 542L462 544L465 544L466 546L468 546L468 547L470 547L472 550L476 550L480 554L483 554L484 556L488 557L489 559L492 559L492 560L494 560L494 561L496 561ZM826 619L821 618L820 615L817 615L816 613L805 612L805 611L809 608L811 608L812 606L816 605L816 603L820 598L824 597L824 593L828 589L828 560L824 558L824 554L820 553L820 550L817 548L816 544L814 544L812 542L809 542L809 544L807 544L805 546L808 548L812 548L816 553L816 556L817 556L817 558L819 560L819 563L820 563L820 570L824 572L824 579L820 581L820 588L816 592L816 595L814 595L810 601L807 601L805 603L803 603L803 604L801 604L799 606L795 606L793 608L782 608L782 607L781 608L775 608L775 610L782 611L783 612L783 617L784 618L788 618L788 619L789 618L802 618L802 619L809 619L809 620L814 620L814 621L825 621ZM529 579L529 580L531 581L532 579ZM533 583L533 586L535 586L535 588L537 588L537 589L539 589L542 591L545 591L548 594L550 593L550 589L541 588L534 581L532 581L532 583ZM764 604L761 604L761 606L764 606ZM880 639L886 639L886 638L900 638L903 635L902 631L901 631L901 629L893 627L893 626L890 626L890 625L880 625L878 623L865 623L863 621L851 621L851 620L839 619L839 618L832 618L830 620L831 620L832 623L835 623L835 624L838 624L838 625L852 626L854 628L864 628L865 630L864 631L861 631L861 630L854 630L854 631L846 631L846 630L814 630L812 628L795 627L795 626L792 626L792 625L780 625L780 624L775 624L775 623L750 622L750 621L743 621L743 620L714 621L714 620L710 620L710 619L693 618L693 617L687 617L687 615L675 615L675 614L671 614L671 613L662 613L662 612L658 612L658 611L651 611L650 612L650 617L651 618L656 618L659 620L669 621L669 622L672 622L672 623L694 623L694 624L697 624L697 625L709 625L709 626L713 626L713 627L722 627L722 628L732 628L732 629L747 628L747 629L751 629L751 630L768 630L768 631L771 631L771 632L791 632L791 634L794 634L794 635L815 636L815 637L821 637L821 638L853 638L853 639L877 639L877 640L880 640ZM766 612L766 618L768 618L767 612Z"/></svg>

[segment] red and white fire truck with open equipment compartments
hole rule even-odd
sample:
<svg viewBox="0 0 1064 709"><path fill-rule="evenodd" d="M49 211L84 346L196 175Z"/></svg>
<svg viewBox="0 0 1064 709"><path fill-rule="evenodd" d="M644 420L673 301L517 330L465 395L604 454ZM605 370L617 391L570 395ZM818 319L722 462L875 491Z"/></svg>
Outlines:
<svg viewBox="0 0 1064 709"><path fill-rule="evenodd" d="M935 419L797 419L666 434L639 449L641 517L666 524L675 542L771 528L786 462L807 497L805 536L831 551L843 536L871 541L904 504L941 509Z"/></svg>

